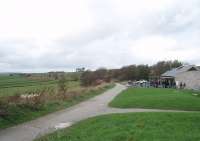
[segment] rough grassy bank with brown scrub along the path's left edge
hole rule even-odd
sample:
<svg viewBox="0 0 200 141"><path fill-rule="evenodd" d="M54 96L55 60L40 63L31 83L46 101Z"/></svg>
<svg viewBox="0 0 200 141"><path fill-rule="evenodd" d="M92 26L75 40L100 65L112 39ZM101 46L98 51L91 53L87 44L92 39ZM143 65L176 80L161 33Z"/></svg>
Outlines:
<svg viewBox="0 0 200 141"><path fill-rule="evenodd" d="M65 95L60 95L59 93L49 94L47 91L47 93L44 93L41 97L32 100L25 99L25 102L20 100L19 96L11 97L9 104L6 105L6 115L0 116L0 129L70 107L88 98L101 94L113 86L114 84L102 84L90 88L82 88L79 86L75 89L75 87L73 87L73 90L70 91L69 89ZM3 107L4 103L0 102L0 104L2 104L0 106Z"/></svg>

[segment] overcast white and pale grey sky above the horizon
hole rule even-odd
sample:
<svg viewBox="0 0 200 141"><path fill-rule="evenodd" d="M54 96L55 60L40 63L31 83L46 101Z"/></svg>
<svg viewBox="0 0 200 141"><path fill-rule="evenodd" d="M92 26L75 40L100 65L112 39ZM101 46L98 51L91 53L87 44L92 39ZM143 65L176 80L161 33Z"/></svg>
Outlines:
<svg viewBox="0 0 200 141"><path fill-rule="evenodd" d="M200 65L199 0L0 0L0 72Z"/></svg>

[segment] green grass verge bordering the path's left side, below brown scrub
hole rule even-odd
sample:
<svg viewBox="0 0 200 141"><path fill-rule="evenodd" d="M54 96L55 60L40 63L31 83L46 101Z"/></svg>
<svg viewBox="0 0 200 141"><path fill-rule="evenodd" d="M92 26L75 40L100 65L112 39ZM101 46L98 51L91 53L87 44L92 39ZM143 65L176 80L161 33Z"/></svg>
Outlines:
<svg viewBox="0 0 200 141"><path fill-rule="evenodd" d="M72 85L72 84L71 84ZM36 119L37 117L44 116L48 113L52 113L67 107L70 107L72 105L75 105L77 103L80 103L86 99L89 99L91 97L94 97L98 94L101 94L102 92L106 91L107 89L110 89L114 87L113 84L105 85L103 87L99 87L95 90L89 90L80 96L74 97L70 100L53 100L45 103L45 105L39 109L39 110L33 110L29 107L25 106L16 106L11 105L8 107L8 113L10 113L6 117L0 117L0 129L7 128L13 125L17 125L29 120Z"/></svg>

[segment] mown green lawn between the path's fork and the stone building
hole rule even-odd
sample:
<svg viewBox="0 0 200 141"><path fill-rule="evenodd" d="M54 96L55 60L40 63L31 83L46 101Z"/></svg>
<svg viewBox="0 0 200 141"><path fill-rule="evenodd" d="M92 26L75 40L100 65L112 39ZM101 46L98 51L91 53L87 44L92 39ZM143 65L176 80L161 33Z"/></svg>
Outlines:
<svg viewBox="0 0 200 141"><path fill-rule="evenodd" d="M192 91L156 88L130 88L119 94L109 105L118 108L155 108L200 110L200 97Z"/></svg>

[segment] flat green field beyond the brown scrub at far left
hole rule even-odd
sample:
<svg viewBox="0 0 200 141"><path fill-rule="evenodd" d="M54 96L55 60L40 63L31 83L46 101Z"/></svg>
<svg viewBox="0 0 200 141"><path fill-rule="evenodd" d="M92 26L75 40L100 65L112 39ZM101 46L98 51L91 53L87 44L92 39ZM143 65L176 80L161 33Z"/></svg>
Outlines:
<svg viewBox="0 0 200 141"><path fill-rule="evenodd" d="M44 88L54 89L57 80L31 80L23 76L0 75L0 96L11 96L15 94L27 94L41 91ZM79 85L78 81L70 81L69 87Z"/></svg>

